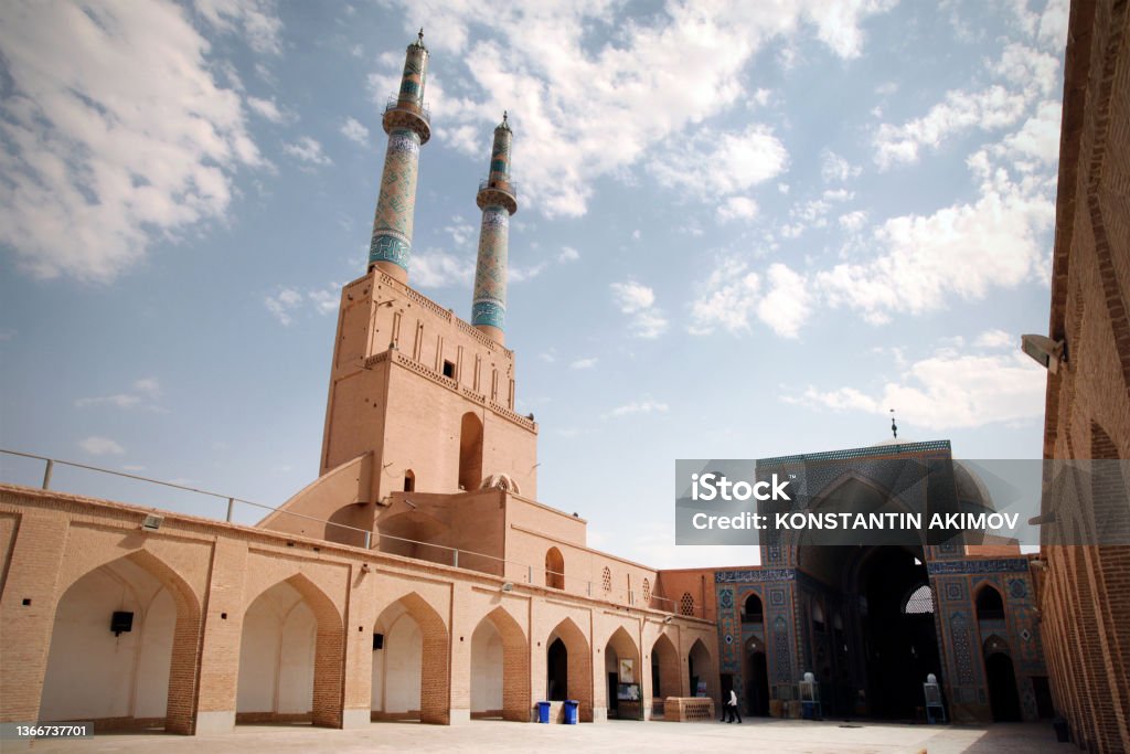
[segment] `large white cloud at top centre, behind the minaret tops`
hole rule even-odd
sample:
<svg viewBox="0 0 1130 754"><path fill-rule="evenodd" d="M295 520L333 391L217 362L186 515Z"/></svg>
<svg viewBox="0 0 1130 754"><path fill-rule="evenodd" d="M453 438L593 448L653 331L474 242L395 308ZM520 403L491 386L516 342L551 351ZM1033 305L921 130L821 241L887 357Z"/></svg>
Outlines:
<svg viewBox="0 0 1130 754"><path fill-rule="evenodd" d="M515 130L514 172L523 196L544 215L579 216L588 208L596 179L624 175L642 162L663 163L666 153L681 151L685 137L672 137L687 125L763 98L757 88L747 90L742 71L768 42L788 43L815 29L837 55L854 58L862 51L861 23L890 2L679 0L631 23L620 23L606 0L512 3L492 14L490 36L473 42L469 31L483 21L475 3L397 5L412 19L406 21L406 35L415 33L415 19L427 18L425 42L433 54L463 63L458 96L428 81L436 121L442 114L446 124L437 128L437 137L481 157L485 128L508 109ZM586 32L598 25L610 26L612 35L594 47ZM388 73L381 76L391 79L399 72L398 58L382 63ZM615 78L608 77L610 70ZM386 84L381 102L395 90L393 81ZM467 125L476 128L476 138ZM723 145L722 154L741 164L737 175L748 187L765 170L751 163L765 155L748 150L754 145L740 137L731 136L737 140Z"/></svg>

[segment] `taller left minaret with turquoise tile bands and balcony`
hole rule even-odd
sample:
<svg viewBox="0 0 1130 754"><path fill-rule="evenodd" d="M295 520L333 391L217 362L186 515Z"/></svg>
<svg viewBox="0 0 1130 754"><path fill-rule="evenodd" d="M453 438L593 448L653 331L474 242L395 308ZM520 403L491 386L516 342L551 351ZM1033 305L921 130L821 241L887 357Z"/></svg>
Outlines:
<svg viewBox="0 0 1130 754"><path fill-rule="evenodd" d="M400 94L384 109L384 132L389 150L384 154L381 198L373 218L373 242L368 248L368 269L379 267L401 283L408 280L408 259L412 249L412 215L416 213L416 175L419 172L420 145L432 137L428 112L424 106L424 80L427 77L427 47L424 29L408 45Z"/></svg>

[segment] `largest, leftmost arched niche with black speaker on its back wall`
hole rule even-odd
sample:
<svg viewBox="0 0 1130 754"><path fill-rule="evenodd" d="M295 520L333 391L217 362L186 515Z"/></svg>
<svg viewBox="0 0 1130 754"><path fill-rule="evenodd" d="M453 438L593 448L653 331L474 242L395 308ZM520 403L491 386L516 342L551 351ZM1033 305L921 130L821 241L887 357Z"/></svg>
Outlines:
<svg viewBox="0 0 1130 754"><path fill-rule="evenodd" d="M41 721L192 731L200 608L146 551L77 579L55 606ZM182 658L174 666L174 658Z"/></svg>

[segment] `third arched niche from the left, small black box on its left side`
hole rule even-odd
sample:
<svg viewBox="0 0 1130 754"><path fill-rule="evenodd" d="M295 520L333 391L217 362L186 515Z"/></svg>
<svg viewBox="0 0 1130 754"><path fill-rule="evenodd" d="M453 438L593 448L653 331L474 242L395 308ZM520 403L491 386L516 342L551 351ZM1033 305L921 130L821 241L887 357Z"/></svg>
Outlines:
<svg viewBox="0 0 1130 754"><path fill-rule="evenodd" d="M447 725L447 626L411 592L381 612L373 624L370 718Z"/></svg>

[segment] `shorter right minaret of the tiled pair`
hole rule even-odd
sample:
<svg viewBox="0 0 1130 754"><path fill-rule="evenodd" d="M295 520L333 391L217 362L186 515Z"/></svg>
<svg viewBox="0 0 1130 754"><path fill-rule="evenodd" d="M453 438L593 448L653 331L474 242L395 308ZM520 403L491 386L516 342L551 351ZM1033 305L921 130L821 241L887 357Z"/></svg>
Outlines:
<svg viewBox="0 0 1130 754"><path fill-rule="evenodd" d="M506 123L495 128L490 149L490 174L479 183L475 198L483 210L479 228L479 260L475 267L475 297L471 300L471 324L505 344L506 324L506 253L510 216L518 211L516 189L510 182L510 142L513 135Z"/></svg>

